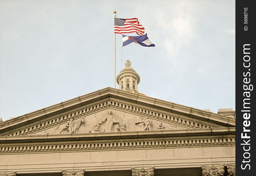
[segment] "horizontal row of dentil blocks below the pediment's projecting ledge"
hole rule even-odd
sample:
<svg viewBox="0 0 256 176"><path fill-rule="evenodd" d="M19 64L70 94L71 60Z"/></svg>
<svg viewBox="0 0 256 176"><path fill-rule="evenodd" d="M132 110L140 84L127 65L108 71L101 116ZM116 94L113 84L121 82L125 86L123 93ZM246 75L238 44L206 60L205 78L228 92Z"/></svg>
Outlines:
<svg viewBox="0 0 256 176"><path fill-rule="evenodd" d="M187 147L217 147L235 146L235 135L225 136L197 136L190 138L141 138L122 140L97 140L47 142L37 141L35 143L9 143L0 145L1 154L19 153L52 153L52 152L79 152L79 151L103 151L103 150L137 150L137 149L159 149L159 148L187 148ZM78 141L79 140L79 141ZM24 140L25 142L25 140ZM26 141L28 142L28 141Z"/></svg>

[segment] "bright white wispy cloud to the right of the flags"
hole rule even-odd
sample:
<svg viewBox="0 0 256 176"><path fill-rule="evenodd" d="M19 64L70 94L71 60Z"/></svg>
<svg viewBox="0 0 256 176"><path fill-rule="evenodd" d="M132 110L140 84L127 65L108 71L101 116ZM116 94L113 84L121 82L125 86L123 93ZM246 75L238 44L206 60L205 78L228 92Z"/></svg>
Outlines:
<svg viewBox="0 0 256 176"><path fill-rule="evenodd" d="M186 47L187 44L195 37L195 4L182 2L181 4L176 1L172 2L171 6L175 6L172 11L163 11L162 7L157 9L158 26L162 27L161 38L164 37L164 47L172 62L175 62L174 57L178 56L180 51Z"/></svg>

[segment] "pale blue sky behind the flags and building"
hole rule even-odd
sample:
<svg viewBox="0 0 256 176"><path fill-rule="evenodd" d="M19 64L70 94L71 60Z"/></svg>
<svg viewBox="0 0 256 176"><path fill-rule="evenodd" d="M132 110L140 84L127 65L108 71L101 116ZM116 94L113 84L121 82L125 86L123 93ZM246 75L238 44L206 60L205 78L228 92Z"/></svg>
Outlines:
<svg viewBox="0 0 256 176"><path fill-rule="evenodd" d="M117 34L116 75L129 59L149 97L235 110L235 1L0 0L3 121L113 87L113 11L155 44Z"/></svg>

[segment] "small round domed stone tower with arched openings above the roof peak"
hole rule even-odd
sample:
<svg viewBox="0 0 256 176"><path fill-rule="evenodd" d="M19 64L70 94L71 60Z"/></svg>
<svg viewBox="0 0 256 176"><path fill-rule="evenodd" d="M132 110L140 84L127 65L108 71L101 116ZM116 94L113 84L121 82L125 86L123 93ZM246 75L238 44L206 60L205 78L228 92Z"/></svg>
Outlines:
<svg viewBox="0 0 256 176"><path fill-rule="evenodd" d="M131 67L132 62L124 62L124 69L117 75L117 83L120 90L137 93L140 77Z"/></svg>

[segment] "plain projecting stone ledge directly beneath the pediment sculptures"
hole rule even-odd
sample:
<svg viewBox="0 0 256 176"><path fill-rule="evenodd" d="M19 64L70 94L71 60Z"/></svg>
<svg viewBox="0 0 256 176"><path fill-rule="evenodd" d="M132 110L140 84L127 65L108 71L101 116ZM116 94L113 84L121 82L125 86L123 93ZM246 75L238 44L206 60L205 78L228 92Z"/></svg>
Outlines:
<svg viewBox="0 0 256 176"><path fill-rule="evenodd" d="M53 141L89 141L89 140L110 140L110 139L139 139L139 138L168 138L193 136L223 136L235 135L235 127L226 128L204 128L204 129L183 129L163 131L132 131L112 133L79 133L79 134L55 134L36 136L0 136L0 143L33 143Z"/></svg>

